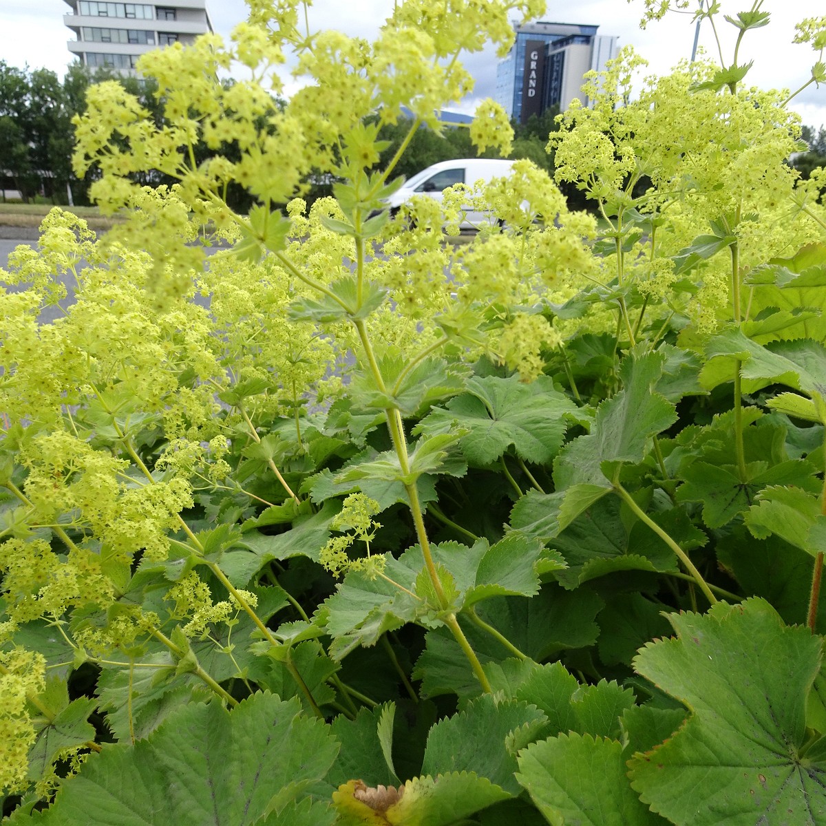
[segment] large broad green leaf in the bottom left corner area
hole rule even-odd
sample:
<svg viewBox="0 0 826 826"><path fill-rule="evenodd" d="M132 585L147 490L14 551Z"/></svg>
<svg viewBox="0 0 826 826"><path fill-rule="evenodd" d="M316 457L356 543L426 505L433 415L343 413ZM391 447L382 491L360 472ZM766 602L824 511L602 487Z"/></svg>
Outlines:
<svg viewBox="0 0 826 826"><path fill-rule="evenodd" d="M134 746L89 757L60 786L45 823L254 824L273 795L287 805L335 760L339 746L325 724L299 708L268 694L231 713L216 702L188 705Z"/></svg>

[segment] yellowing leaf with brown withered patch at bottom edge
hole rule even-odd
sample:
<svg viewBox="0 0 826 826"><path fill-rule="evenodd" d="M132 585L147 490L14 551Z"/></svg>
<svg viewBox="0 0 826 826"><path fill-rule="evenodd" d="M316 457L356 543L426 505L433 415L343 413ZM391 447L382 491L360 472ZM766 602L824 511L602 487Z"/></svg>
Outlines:
<svg viewBox="0 0 826 826"><path fill-rule="evenodd" d="M370 790L358 781L339 786L333 803L339 810L340 826L453 826L487 806L510 795L485 777L465 772L445 774L435 779L415 777L402 787L397 802L384 809L365 803ZM386 790L372 790L383 793ZM397 795L396 795L397 796Z"/></svg>

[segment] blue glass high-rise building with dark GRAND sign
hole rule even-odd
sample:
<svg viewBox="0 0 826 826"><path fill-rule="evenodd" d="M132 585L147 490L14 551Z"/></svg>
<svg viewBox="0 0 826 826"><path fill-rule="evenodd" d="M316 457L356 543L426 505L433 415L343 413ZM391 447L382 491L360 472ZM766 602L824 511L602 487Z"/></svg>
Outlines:
<svg viewBox="0 0 826 826"><path fill-rule="evenodd" d="M599 26L544 21L514 26L516 41L496 69L496 101L519 123L550 107L563 112L578 97L582 76L605 69L616 57L617 38Z"/></svg>

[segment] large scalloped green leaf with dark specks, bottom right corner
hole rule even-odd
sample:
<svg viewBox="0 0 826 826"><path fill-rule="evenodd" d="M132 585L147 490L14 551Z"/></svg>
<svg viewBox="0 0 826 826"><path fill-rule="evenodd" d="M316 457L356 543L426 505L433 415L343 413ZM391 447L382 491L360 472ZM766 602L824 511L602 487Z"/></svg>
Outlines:
<svg viewBox="0 0 826 826"><path fill-rule="evenodd" d="M677 638L648 643L634 667L691 716L630 762L643 802L692 826L826 823L826 762L800 751L821 640L757 599L669 619Z"/></svg>

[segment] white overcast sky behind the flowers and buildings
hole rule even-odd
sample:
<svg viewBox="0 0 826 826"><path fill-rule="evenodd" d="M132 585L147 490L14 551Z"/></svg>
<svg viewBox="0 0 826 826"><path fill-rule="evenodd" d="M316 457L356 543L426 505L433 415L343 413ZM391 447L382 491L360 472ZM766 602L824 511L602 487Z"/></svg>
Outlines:
<svg viewBox="0 0 826 826"><path fill-rule="evenodd" d="M734 14L746 10L751 0L722 0L723 11ZM311 7L311 28L335 28L349 35L372 38L393 0L316 0ZM657 74L667 72L676 60L691 55L694 26L688 15L669 14L659 23L640 31L638 21L642 0L548 0L544 20L564 23L588 23L600 26L601 35L619 36L619 45L634 45L648 59ZM207 0L215 30L228 36L233 26L245 17L243 0ZM799 88L809 78L814 52L809 45L792 45L794 24L803 17L826 13L824 0L764 0L763 11L771 12L767 28L748 32L743 41L740 62L754 60L747 82L762 88ZM71 32L64 26L64 0L0 0L0 60L31 69L45 67L63 74L72 56L66 47ZM723 24L724 30L733 26ZM708 23L701 28L700 45L716 48ZM733 40L724 52L730 59ZM472 97L453 106L458 111L472 111L476 99L492 95L496 82L496 55L491 50L470 55L465 64L477 80ZM826 125L826 85L809 87L795 98L793 107L810 126Z"/></svg>

